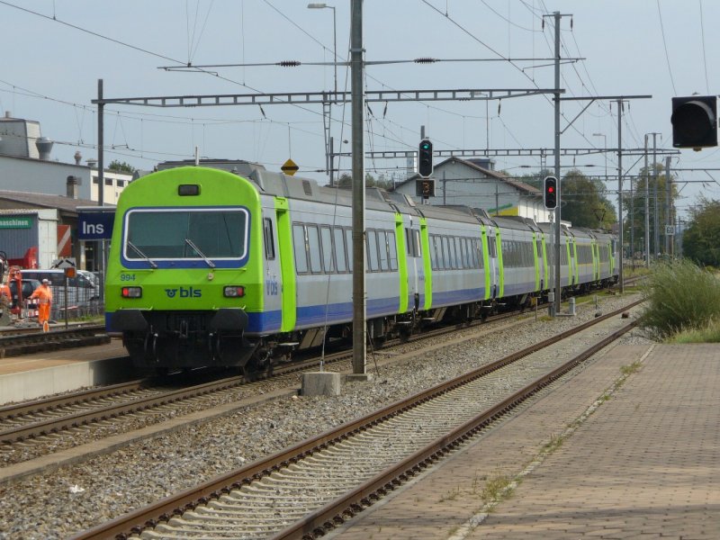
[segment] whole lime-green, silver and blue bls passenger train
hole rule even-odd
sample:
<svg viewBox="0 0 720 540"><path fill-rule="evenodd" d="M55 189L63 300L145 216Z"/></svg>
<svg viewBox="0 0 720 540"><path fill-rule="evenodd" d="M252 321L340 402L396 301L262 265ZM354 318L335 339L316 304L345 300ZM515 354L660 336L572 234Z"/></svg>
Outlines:
<svg viewBox="0 0 720 540"><path fill-rule="evenodd" d="M351 193L256 168L180 166L118 202L106 325L136 365L160 369L287 359L351 338ZM550 225L366 191L366 317L376 343L428 322L526 305L552 285ZM617 281L617 238L565 229L563 290Z"/></svg>

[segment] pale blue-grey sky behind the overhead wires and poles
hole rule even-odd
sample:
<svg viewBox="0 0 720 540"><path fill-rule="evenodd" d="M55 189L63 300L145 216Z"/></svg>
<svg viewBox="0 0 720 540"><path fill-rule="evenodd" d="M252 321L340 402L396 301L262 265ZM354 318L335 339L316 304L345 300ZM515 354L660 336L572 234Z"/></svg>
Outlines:
<svg viewBox="0 0 720 540"><path fill-rule="evenodd" d="M52 158L72 163L78 150L84 160L97 156L98 79L105 98L331 90L335 68L328 64L336 53L339 62L349 58L350 0L327 4L335 9L295 0L0 0L0 111L40 121L42 135L55 141ZM563 14L563 96L605 97L587 109L588 99L563 101L562 148L617 148L617 98L652 95L627 99L622 111L623 173L636 175L644 158L629 150L643 148L645 134L656 133L656 148L672 149L671 98L720 88L713 69L720 2L711 0L365 0L364 86L553 88L554 12ZM302 65L275 65L284 60ZM189 64L225 66L166 69ZM337 85L350 89L344 65L337 67ZM368 105L366 151L417 149L422 126L436 150L554 148L550 95ZM292 158L298 175L328 181L320 104L108 105L105 111L105 164L117 159L149 170L192 158L198 148L202 157L247 159L275 171ZM349 151L351 143L343 141L352 139L350 104L330 112L336 151ZM554 166L552 156L509 154L492 159L510 175ZM657 160L664 164L665 157ZM599 175L617 192L617 164L617 153L598 152L562 157L561 171ZM338 166L349 170L349 157ZM397 181L407 177L407 166L405 159L365 159L366 172ZM671 167L680 213L700 194L720 199L717 148L683 149L671 155Z"/></svg>

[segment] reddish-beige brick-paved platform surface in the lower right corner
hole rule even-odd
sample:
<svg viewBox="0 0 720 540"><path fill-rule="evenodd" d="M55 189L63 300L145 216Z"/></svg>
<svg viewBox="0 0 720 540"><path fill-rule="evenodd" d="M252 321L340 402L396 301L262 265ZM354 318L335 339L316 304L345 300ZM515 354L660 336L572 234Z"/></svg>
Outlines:
<svg viewBox="0 0 720 540"><path fill-rule="evenodd" d="M326 537L720 538L720 345L615 347L561 385Z"/></svg>

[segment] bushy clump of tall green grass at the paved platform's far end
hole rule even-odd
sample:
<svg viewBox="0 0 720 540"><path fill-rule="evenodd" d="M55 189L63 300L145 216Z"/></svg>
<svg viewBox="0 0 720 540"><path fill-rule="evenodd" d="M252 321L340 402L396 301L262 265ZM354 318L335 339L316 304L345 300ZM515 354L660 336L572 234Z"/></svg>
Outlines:
<svg viewBox="0 0 720 540"><path fill-rule="evenodd" d="M689 260L653 266L643 293L647 308L640 324L659 338L720 320L720 282Z"/></svg>

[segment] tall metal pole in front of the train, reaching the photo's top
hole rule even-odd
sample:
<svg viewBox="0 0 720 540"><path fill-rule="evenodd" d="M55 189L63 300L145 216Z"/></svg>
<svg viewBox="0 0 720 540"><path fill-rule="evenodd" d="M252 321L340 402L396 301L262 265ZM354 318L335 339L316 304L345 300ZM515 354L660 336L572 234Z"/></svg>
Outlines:
<svg viewBox="0 0 720 540"><path fill-rule="evenodd" d="M363 0L352 0L350 76L353 133L353 375L367 376L365 329L365 95L363 94Z"/></svg>

